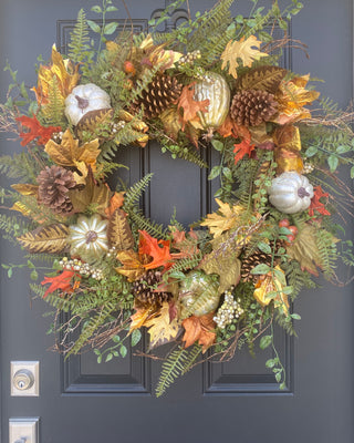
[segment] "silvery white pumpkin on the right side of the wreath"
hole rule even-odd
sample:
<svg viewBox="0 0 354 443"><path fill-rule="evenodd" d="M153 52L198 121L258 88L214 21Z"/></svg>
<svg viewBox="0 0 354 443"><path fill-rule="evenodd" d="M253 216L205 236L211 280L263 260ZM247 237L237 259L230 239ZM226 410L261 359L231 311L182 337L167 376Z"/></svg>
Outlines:
<svg viewBox="0 0 354 443"><path fill-rule="evenodd" d="M268 188L270 203L281 213L295 214L308 209L313 197L309 179L295 172L282 173Z"/></svg>

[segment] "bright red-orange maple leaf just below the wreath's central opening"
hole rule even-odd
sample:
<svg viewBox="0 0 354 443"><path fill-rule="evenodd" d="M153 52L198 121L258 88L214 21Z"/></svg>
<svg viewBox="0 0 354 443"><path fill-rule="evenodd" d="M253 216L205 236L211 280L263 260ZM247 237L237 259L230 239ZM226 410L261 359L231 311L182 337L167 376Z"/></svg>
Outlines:
<svg viewBox="0 0 354 443"><path fill-rule="evenodd" d="M144 265L145 269L155 269L164 266L168 269L173 266L173 258L169 251L169 240L157 240L146 230L139 230L139 254L146 254L153 258L150 262Z"/></svg>

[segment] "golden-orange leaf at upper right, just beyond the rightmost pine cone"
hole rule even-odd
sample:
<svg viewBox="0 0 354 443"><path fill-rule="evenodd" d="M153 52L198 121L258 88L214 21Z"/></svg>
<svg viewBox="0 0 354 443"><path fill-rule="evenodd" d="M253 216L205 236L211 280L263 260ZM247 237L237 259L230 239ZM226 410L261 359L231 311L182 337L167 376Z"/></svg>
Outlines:
<svg viewBox="0 0 354 443"><path fill-rule="evenodd" d="M280 85L275 100L279 103L275 123L281 125L311 117L311 112L303 106L312 104L320 93L305 89L310 74L296 76Z"/></svg>

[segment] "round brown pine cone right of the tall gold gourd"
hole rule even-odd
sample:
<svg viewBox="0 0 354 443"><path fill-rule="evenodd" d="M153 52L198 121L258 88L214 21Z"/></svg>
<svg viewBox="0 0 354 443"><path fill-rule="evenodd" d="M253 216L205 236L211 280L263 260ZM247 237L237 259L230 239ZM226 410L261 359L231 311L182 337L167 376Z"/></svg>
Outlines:
<svg viewBox="0 0 354 443"><path fill-rule="evenodd" d="M274 95L267 91L244 90L233 95L230 115L242 126L258 126L278 112Z"/></svg>

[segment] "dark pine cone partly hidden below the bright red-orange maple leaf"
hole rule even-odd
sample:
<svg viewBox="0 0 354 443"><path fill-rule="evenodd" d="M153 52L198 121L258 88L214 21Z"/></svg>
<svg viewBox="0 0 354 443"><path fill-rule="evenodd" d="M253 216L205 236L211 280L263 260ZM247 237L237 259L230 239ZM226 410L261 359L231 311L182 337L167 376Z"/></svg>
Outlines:
<svg viewBox="0 0 354 443"><path fill-rule="evenodd" d="M158 284L162 281L162 272L149 269L143 277L133 284L133 295L135 300L142 305L163 305L173 297L170 292L156 292Z"/></svg>

